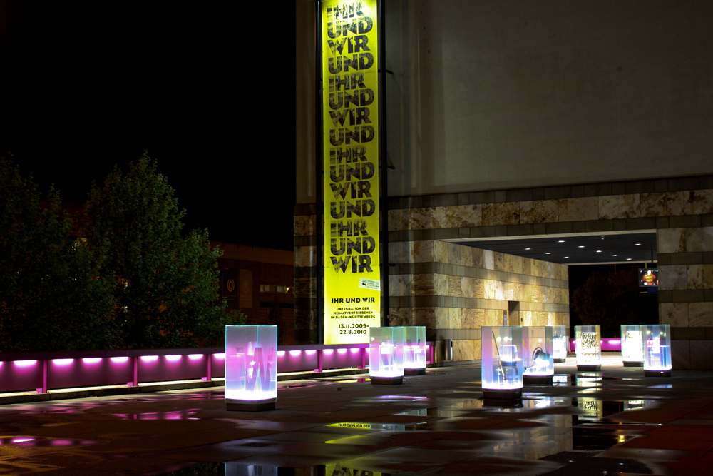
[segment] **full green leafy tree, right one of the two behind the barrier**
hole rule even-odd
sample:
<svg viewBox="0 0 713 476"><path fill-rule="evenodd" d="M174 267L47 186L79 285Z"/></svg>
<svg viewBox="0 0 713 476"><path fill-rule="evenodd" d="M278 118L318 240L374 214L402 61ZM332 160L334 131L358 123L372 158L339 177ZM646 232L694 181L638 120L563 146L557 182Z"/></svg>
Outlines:
<svg viewBox="0 0 713 476"><path fill-rule="evenodd" d="M113 318L129 348L218 345L227 315L218 294L217 258L207 231L182 234L185 210L146 153L122 173L92 184L81 236L103 250L111 277Z"/></svg>

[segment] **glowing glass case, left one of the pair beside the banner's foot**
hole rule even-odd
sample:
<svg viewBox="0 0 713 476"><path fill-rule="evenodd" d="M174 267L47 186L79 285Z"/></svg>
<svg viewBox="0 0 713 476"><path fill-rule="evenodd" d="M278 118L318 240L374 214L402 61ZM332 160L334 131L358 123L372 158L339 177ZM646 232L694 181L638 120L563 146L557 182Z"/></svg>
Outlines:
<svg viewBox="0 0 713 476"><path fill-rule="evenodd" d="M404 382L404 328L369 328L369 379L377 385Z"/></svg>

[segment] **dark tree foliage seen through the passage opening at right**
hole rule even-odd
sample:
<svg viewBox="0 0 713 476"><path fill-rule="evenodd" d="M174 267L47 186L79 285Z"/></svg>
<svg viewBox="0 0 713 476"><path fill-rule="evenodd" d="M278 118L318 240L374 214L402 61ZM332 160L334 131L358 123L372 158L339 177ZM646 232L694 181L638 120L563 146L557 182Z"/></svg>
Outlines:
<svg viewBox="0 0 713 476"><path fill-rule="evenodd" d="M602 337L618 337L622 324L656 324L655 295L642 294L635 268L596 271L574 291L572 309L584 325L600 325Z"/></svg>

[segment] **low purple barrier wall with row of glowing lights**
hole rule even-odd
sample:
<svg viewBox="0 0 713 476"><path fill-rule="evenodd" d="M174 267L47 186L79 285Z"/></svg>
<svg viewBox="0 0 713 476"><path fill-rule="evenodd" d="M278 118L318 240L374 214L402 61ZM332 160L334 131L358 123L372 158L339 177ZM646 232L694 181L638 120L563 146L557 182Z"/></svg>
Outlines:
<svg viewBox="0 0 713 476"><path fill-rule="evenodd" d="M427 343L429 363L434 345ZM282 345L277 371L366 368L369 344ZM0 354L0 393L225 377L225 348Z"/></svg>

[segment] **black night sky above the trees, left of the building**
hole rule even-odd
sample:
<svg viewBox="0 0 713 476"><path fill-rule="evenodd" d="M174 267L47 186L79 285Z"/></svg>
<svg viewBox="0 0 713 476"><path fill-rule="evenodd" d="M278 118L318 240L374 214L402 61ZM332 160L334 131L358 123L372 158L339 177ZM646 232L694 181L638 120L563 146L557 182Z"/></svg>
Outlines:
<svg viewBox="0 0 713 476"><path fill-rule="evenodd" d="M0 153L83 203L147 150L187 228L292 249L294 6L153 3L0 0Z"/></svg>

